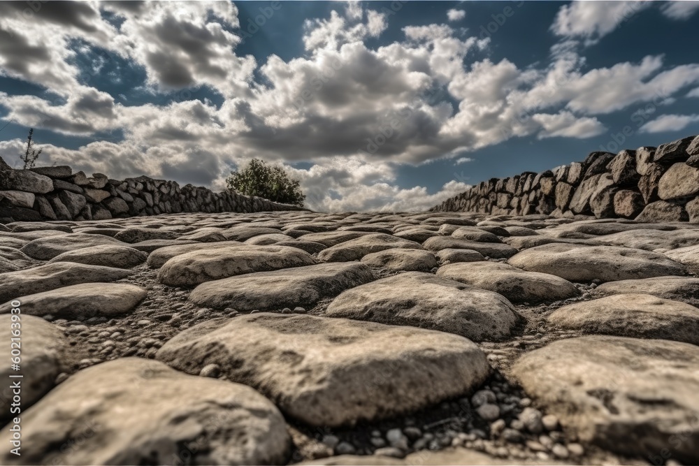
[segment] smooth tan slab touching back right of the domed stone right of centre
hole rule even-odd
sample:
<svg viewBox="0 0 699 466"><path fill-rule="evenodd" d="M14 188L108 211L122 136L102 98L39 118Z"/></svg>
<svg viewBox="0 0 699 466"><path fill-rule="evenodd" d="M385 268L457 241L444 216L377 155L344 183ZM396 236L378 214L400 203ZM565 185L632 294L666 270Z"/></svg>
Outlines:
<svg viewBox="0 0 699 466"><path fill-rule="evenodd" d="M442 265L437 275L500 293L512 303L550 303L580 294L575 285L561 277L525 272L506 263L452 263Z"/></svg>

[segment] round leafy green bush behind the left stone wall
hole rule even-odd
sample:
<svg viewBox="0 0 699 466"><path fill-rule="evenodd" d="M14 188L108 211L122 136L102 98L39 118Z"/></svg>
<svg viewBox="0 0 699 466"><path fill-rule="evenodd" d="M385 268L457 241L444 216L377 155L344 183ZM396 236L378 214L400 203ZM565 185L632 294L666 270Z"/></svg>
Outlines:
<svg viewBox="0 0 699 466"><path fill-rule="evenodd" d="M260 159L252 159L243 170L232 171L226 184L232 191L278 203L303 207L305 200L298 180L291 179L284 168L268 166Z"/></svg>

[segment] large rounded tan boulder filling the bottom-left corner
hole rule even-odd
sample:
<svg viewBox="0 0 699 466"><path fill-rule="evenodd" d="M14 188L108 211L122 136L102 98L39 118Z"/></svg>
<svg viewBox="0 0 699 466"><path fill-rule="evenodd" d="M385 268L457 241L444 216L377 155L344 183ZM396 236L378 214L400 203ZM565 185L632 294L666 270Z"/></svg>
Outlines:
<svg viewBox="0 0 699 466"><path fill-rule="evenodd" d="M3 464L284 464L290 446L284 418L252 388L143 358L64 381L23 413L22 440L32 448L6 449Z"/></svg>

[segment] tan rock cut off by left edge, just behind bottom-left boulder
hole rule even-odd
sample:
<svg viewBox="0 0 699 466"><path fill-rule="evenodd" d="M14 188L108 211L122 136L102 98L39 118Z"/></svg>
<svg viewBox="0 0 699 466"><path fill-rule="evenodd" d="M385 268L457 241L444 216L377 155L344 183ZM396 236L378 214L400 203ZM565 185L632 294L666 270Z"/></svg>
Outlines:
<svg viewBox="0 0 699 466"><path fill-rule="evenodd" d="M9 304L9 303L8 303ZM9 305L3 305L3 310L9 313ZM20 307L24 312L24 303ZM63 332L52 323L34 316L20 315L20 326L12 328L15 323L9 314L0 315L0 340L6 344L8 355L3 358L0 366L3 396L0 396L0 425L5 425L15 414L10 412L13 393L8 390L14 381L21 381L22 409L34 405L55 383L57 375L64 370L64 352L68 343L64 340ZM17 341L12 330L20 330L20 371L10 367L10 342ZM22 379L11 379L10 375L22 375Z"/></svg>

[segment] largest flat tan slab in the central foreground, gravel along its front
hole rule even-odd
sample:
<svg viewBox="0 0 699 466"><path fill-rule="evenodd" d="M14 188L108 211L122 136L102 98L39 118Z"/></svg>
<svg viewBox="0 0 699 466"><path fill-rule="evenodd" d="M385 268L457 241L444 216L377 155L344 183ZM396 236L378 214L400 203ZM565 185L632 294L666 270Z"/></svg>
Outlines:
<svg viewBox="0 0 699 466"><path fill-rule="evenodd" d="M156 357L190 374L218 364L284 414L328 427L464 395L490 370L480 348L458 335L301 314L204 322L176 335Z"/></svg>

